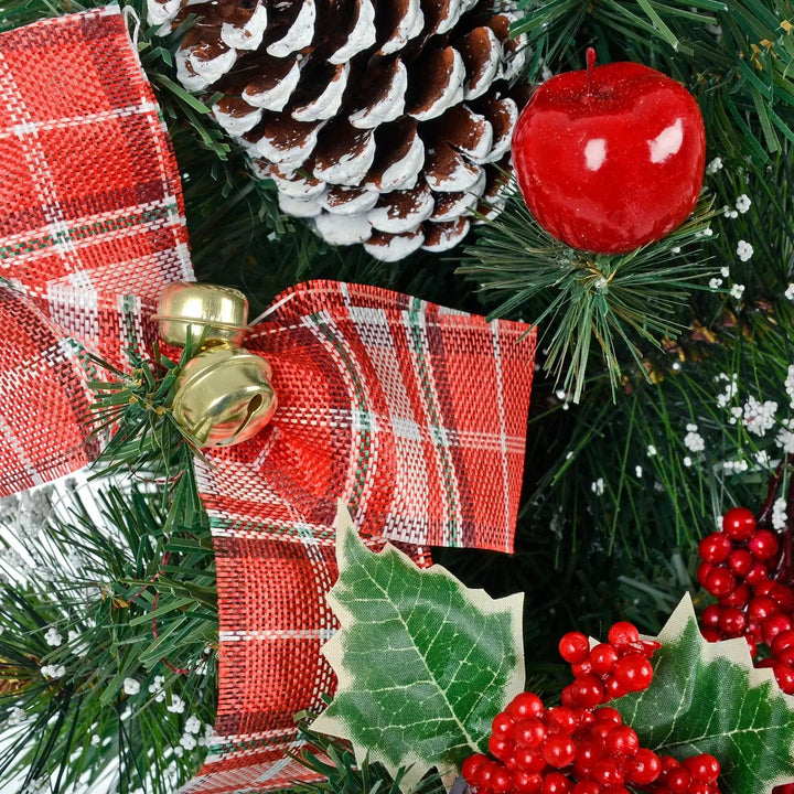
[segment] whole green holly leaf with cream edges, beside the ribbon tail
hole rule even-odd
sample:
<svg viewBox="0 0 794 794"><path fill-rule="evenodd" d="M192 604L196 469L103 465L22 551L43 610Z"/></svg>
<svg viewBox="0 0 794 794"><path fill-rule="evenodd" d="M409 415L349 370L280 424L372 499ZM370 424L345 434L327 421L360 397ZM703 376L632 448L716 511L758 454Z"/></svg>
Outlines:
<svg viewBox="0 0 794 794"><path fill-rule="evenodd" d="M328 601L342 627L323 653L339 690L312 730L350 740L360 762L409 768L403 791L459 769L524 686L523 596L492 599L393 546L374 554L342 505L336 559Z"/></svg>

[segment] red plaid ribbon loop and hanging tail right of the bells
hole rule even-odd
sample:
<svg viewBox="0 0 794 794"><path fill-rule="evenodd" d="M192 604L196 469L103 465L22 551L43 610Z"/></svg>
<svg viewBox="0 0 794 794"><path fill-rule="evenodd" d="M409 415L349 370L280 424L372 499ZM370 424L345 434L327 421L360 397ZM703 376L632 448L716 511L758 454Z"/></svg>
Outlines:
<svg viewBox="0 0 794 794"><path fill-rule="evenodd" d="M272 365L279 408L210 455L221 610L223 743L183 791L266 792L307 779L285 755L297 711L322 709L336 629L336 498L363 535L509 551L535 336L385 290L300 285L246 342Z"/></svg>

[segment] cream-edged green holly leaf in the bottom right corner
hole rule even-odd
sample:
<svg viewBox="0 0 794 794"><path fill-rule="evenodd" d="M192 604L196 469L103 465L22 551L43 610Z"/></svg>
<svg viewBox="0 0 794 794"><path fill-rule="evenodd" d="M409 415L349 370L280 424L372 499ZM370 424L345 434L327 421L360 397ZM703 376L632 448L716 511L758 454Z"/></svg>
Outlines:
<svg viewBox="0 0 794 794"><path fill-rule="evenodd" d="M709 643L687 594L658 635L654 679L613 700L643 747L677 759L708 752L722 794L765 794L794 781L794 697L752 666L743 639Z"/></svg>

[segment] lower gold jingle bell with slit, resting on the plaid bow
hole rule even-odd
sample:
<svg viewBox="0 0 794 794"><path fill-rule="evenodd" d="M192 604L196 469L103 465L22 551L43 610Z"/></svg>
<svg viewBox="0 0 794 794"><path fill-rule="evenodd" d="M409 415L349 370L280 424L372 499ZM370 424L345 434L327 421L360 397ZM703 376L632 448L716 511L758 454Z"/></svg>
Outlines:
<svg viewBox="0 0 794 794"><path fill-rule="evenodd" d="M191 358L173 415L202 447L230 447L261 430L276 410L270 365L239 347L211 347Z"/></svg>

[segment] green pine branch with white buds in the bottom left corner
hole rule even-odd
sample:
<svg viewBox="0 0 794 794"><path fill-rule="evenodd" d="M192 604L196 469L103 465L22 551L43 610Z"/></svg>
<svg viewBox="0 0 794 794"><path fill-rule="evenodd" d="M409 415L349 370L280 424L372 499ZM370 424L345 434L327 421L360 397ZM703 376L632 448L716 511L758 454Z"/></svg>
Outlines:
<svg viewBox="0 0 794 794"><path fill-rule="evenodd" d="M215 718L217 607L195 598L214 588L208 525L168 535L136 489L35 498L2 505L0 777L173 791Z"/></svg>

